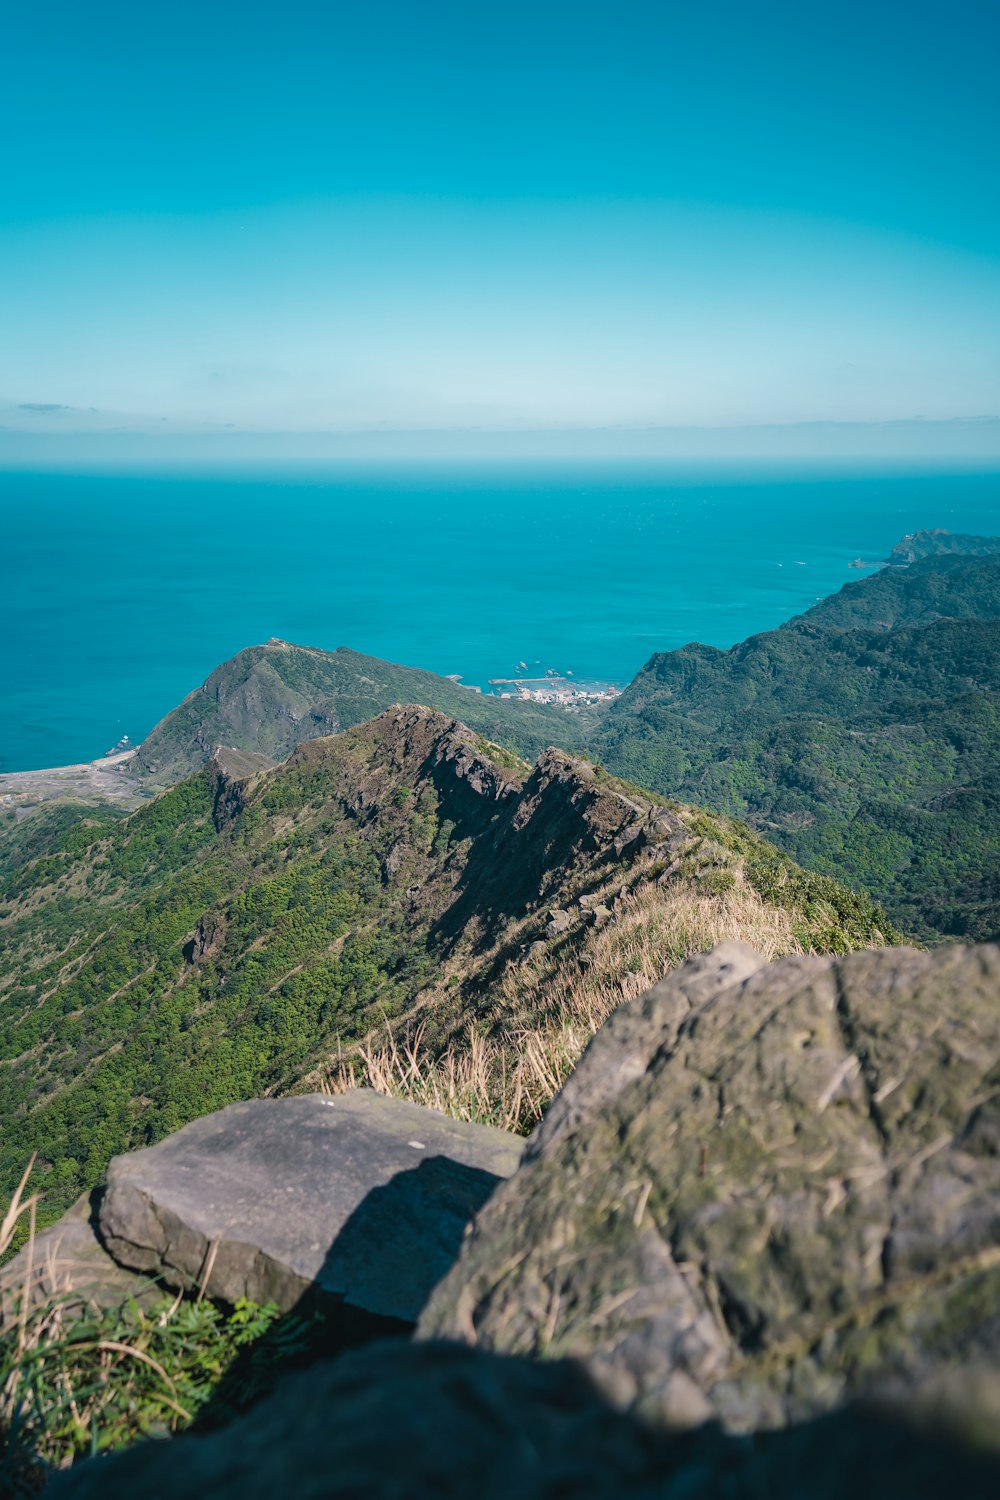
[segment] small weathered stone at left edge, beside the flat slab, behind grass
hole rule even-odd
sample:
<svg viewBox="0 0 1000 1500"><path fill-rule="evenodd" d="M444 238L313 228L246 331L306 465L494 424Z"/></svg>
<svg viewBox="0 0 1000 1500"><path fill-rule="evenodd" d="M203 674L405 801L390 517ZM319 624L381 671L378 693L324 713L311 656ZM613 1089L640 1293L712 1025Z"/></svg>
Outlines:
<svg viewBox="0 0 1000 1500"><path fill-rule="evenodd" d="M102 1308L163 1296L154 1280L126 1270L100 1244L94 1232L99 1202L100 1188L84 1194L0 1269L0 1329L19 1312L25 1294L28 1306L58 1299Z"/></svg>

